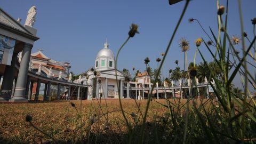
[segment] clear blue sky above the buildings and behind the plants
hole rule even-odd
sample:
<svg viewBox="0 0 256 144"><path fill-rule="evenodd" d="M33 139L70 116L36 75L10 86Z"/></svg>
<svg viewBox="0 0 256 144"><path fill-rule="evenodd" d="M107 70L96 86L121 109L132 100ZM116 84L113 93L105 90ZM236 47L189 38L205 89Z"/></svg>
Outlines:
<svg viewBox="0 0 256 144"><path fill-rule="evenodd" d="M226 1L221 0L226 5ZM37 7L36 22L34 28L40 39L35 42L33 52L43 49L43 53L54 60L68 61L71 63L71 71L75 74L82 73L94 66L94 59L99 50L103 48L107 37L110 49L116 54L119 46L127 38L131 23L139 25L139 35L135 35L121 51L118 69L132 67L143 71L143 60L149 57L150 66L157 67L156 58L161 58L161 53L166 49L173 29L180 17L183 5L180 2L169 5L167 0L130 0L130 1L12 1L1 0L0 6L13 18L21 18L22 25L26 20L27 12L33 5ZM255 0L243 0L243 18L245 31L252 39L253 26L251 19L256 17ZM189 18L201 21L203 27L209 32L209 26L217 33L217 1L194 0L190 2L188 10L180 25L177 35L171 45L164 64L164 75L168 75L169 69L174 69L174 61L179 60L183 65L183 53L178 42L181 37L190 41L188 52L189 62L193 61L196 47L195 39L203 37L208 40L197 23L189 23ZM229 1L228 31L230 36L241 36L238 2ZM239 44L237 49L241 49ZM206 47L200 48L211 60ZM212 48L213 49L213 48ZM199 55L197 62L202 61ZM250 67L250 70L255 71ZM235 84L241 85L239 78Z"/></svg>

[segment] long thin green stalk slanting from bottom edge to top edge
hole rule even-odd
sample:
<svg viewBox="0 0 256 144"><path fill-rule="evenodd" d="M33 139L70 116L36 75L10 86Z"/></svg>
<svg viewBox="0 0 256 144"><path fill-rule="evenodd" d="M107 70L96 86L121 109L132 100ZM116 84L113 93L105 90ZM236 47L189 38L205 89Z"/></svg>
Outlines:
<svg viewBox="0 0 256 144"><path fill-rule="evenodd" d="M162 60L162 62L161 62L161 64L160 64L159 69L161 69L162 66L163 66L165 57L166 57L166 55L167 55L167 53L168 53L168 51L169 51L169 49L170 49L170 46L171 46L171 44L172 44L172 41L173 41L173 39L174 39L174 37L175 37L175 34L176 34L176 32L177 32L177 30L178 30L178 28L179 28L179 25L180 25L180 22L181 22L181 20L182 20L182 18L183 18L183 15L185 14L185 12L186 12L186 10L187 10L187 7L188 7L189 2L190 2L189 0L186 1L186 4L185 4L184 9L183 9L183 11L182 11L182 14L181 14L181 16L180 16L180 19L179 19L179 21L178 21L178 23L177 23L177 26L175 27L175 29L174 29L174 31L173 31L172 37L171 37L171 39L170 39L170 42L169 42L169 44L167 45L167 48L166 48L166 50L165 50L164 57L163 57L163 60ZM157 70L156 78L159 76L159 72L160 72L159 69ZM143 143L145 123L146 123L146 118L147 118L149 103L150 103L150 100L151 100L151 95L152 95L152 92L153 92L153 90L154 90L154 87L156 86L156 80L157 80L156 78L155 78L153 87L151 88L151 92L150 92L149 97L148 97L147 106L146 106L146 110L145 110L145 115L144 115L143 122L142 122L142 129L141 129L141 132L140 132L140 133L141 133L141 137L140 137L139 143Z"/></svg>

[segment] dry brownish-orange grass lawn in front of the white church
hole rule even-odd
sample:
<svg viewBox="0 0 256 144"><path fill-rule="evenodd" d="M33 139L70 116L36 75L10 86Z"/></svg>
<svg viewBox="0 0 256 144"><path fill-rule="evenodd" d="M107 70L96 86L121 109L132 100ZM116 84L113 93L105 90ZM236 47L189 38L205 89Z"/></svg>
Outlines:
<svg viewBox="0 0 256 144"><path fill-rule="evenodd" d="M134 121L131 114L137 116L139 113L134 100L122 101L127 118L131 122ZM81 110L83 137L93 133L97 135L95 138L98 138L98 141L114 140L115 142L124 137L127 130L118 100L101 100L101 107L99 107L100 101L97 100L82 101L82 106L80 105L81 101L72 102L75 103L75 107L72 107L69 102L0 104L0 143L41 142L41 140L43 142L50 139L30 126L25 121L26 115L31 115L33 117L31 122L55 139L60 141L74 140L81 133L78 128L80 122L78 117ZM146 100L137 102L141 110L145 109ZM164 100L158 102L164 102ZM159 103L153 101L153 107L150 107L147 121L153 121L153 115L160 118L166 110ZM91 125L91 123L93 124ZM88 130L89 127L90 130ZM123 140L120 139L120 141Z"/></svg>

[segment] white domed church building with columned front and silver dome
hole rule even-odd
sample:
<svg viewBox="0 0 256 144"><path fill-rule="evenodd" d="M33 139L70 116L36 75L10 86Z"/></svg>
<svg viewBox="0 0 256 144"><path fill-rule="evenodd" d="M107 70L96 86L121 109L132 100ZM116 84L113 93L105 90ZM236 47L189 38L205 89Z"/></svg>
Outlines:
<svg viewBox="0 0 256 144"><path fill-rule="evenodd" d="M94 75L97 71L97 76ZM92 98L118 98L118 87L115 75L115 57L109 49L107 42L95 58L94 71L86 71L87 78L83 77L81 81L91 84L88 91L88 99ZM118 86L120 87L121 98L124 98L124 76L122 71L117 70Z"/></svg>

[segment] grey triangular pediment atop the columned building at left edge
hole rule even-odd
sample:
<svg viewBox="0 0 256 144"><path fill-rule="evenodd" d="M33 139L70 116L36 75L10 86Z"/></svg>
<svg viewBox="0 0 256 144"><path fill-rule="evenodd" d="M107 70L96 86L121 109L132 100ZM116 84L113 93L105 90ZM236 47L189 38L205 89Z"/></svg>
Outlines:
<svg viewBox="0 0 256 144"><path fill-rule="evenodd" d="M29 33L29 31L26 28L21 26L19 22L17 22L14 18L12 18L9 14L7 14L1 8L0 8L0 22L4 23L5 25L7 25L9 27L18 29L20 31L23 31L23 32L31 35L31 33Z"/></svg>

